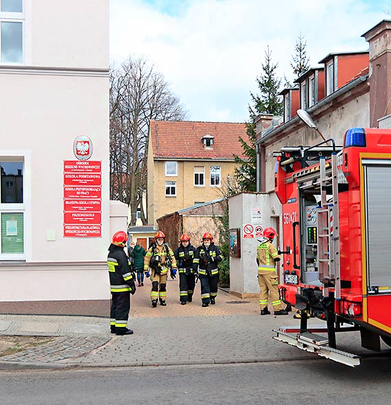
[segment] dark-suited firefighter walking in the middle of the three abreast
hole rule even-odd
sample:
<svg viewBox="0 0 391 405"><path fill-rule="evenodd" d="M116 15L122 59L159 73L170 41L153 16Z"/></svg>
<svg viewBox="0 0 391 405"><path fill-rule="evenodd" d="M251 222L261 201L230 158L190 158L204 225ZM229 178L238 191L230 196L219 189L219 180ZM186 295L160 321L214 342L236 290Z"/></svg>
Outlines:
<svg viewBox="0 0 391 405"><path fill-rule="evenodd" d="M179 300L181 305L193 301L195 287L195 273L193 270L194 253L195 247L190 243L190 236L182 234L180 236L180 245L174 251L174 256L178 263Z"/></svg>

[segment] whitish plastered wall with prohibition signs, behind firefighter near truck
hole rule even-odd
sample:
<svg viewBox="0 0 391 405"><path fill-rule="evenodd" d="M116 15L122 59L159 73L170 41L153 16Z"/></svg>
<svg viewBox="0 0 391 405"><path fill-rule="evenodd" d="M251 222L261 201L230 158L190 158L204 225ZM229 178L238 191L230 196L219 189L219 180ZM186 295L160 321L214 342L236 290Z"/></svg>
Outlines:
<svg viewBox="0 0 391 405"><path fill-rule="evenodd" d="M263 229L277 227L279 211L276 210L276 200L270 193L246 194L242 193L230 197L229 224L230 228L240 229L241 258L230 257L230 292L241 297L259 293L257 280L257 247L259 241L252 234L252 238L244 237L244 225L251 224L253 228L261 225ZM254 218L252 210L258 208L262 212L262 221ZM278 241L276 242L278 243Z"/></svg>

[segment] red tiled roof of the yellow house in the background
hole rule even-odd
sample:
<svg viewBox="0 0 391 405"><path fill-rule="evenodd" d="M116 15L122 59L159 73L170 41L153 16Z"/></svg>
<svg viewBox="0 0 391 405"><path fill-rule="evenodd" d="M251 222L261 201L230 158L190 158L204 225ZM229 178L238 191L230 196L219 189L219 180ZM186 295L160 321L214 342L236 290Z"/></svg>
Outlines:
<svg viewBox="0 0 391 405"><path fill-rule="evenodd" d="M204 148L202 137L211 135L212 149ZM248 143L244 123L207 123L193 121L150 121L154 158L233 159L246 158L239 136Z"/></svg>

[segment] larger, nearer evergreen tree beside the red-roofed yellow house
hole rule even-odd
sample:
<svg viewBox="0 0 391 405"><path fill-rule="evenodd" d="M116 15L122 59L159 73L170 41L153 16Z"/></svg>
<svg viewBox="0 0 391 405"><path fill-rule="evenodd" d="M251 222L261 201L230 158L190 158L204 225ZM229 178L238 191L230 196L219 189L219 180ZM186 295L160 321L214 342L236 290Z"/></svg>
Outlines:
<svg viewBox="0 0 391 405"><path fill-rule="evenodd" d="M250 119L246 123L246 133L249 143L239 137L243 148L245 159L235 155L235 162L239 169L235 169L234 177L239 184L241 191L257 191L257 129L255 119L259 114L281 115L283 112L283 101L279 97L281 79L276 77L277 64L272 63L272 52L269 47L265 51L265 62L262 64L261 77L257 77L257 84L260 95L250 93L254 106L248 107Z"/></svg>

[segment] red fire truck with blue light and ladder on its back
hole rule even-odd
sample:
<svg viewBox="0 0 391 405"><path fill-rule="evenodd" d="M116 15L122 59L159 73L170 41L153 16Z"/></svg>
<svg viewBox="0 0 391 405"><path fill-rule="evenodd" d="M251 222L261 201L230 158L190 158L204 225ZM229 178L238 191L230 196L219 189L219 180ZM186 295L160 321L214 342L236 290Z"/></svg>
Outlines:
<svg viewBox="0 0 391 405"><path fill-rule="evenodd" d="M301 316L300 328L274 339L357 367L359 356L337 349L337 332L358 330L367 349L391 346L391 130L352 128L343 146L330 139L274 156L279 290ZM309 317L324 320L323 335Z"/></svg>

